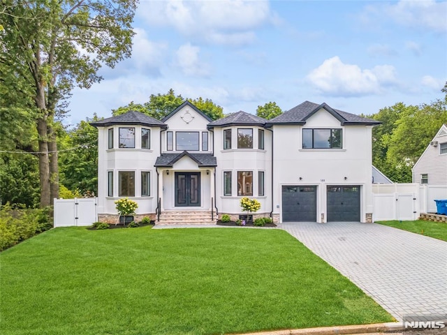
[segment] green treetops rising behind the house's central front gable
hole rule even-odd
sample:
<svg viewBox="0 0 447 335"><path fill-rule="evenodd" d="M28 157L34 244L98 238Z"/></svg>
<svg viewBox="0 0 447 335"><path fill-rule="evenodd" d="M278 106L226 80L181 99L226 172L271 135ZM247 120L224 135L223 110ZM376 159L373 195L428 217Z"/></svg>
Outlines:
<svg viewBox="0 0 447 335"><path fill-rule="evenodd" d="M112 114L116 116L129 112L129 110L135 110L147 114L149 117L154 117L154 119L161 120L170 112L173 112L179 105L182 105L185 100L191 102L213 120L221 119L223 117L223 108L213 103L211 99L203 100L202 97L185 99L181 94L176 96L173 89L170 89L166 94L151 94L147 103L138 104L131 101L129 105L112 110Z"/></svg>

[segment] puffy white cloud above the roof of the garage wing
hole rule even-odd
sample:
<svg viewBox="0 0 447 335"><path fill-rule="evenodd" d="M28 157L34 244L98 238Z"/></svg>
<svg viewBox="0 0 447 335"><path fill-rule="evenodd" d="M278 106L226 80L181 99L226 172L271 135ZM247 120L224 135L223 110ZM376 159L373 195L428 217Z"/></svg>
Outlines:
<svg viewBox="0 0 447 335"><path fill-rule="evenodd" d="M321 66L307 75L307 80L323 94L334 96L379 94L383 87L397 82L393 66L382 65L362 70L357 65L344 64L339 57L323 61Z"/></svg>

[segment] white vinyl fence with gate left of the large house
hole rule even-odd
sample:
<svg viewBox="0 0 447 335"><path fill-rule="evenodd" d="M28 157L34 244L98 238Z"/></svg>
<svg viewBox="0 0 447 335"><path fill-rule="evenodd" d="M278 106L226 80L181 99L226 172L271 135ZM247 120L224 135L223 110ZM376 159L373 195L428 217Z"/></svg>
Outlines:
<svg viewBox="0 0 447 335"><path fill-rule="evenodd" d="M54 228L98 221L98 198L54 199Z"/></svg>

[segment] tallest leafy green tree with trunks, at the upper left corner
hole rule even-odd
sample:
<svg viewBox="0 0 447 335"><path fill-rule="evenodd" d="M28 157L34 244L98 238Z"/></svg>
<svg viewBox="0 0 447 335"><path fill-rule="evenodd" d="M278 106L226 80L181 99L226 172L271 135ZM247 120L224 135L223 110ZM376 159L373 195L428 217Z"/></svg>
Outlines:
<svg viewBox="0 0 447 335"><path fill-rule="evenodd" d="M131 55L137 0L2 0L0 80L6 107L27 110L38 133L41 206L59 192L55 118L75 85L89 88ZM0 86L1 86L0 85Z"/></svg>

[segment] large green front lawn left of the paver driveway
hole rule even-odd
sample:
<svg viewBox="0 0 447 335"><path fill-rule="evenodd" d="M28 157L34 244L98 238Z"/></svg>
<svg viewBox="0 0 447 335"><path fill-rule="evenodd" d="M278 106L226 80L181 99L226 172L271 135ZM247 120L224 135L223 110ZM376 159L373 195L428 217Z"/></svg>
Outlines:
<svg viewBox="0 0 447 335"><path fill-rule="evenodd" d="M282 230L57 228L0 255L0 334L223 334L390 322Z"/></svg>

